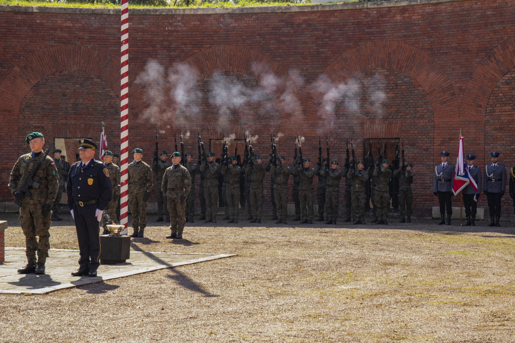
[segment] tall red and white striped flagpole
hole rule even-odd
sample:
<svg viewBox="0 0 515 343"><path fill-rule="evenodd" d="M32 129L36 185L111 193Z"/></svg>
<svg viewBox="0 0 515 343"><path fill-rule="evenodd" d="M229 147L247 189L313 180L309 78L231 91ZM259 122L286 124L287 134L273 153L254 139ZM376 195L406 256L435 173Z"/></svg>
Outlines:
<svg viewBox="0 0 515 343"><path fill-rule="evenodd" d="M121 31L121 91L120 91L120 139L122 170L120 179L120 225L125 226L121 232L127 234L128 222L128 160L129 160L129 0L122 0L122 31Z"/></svg>

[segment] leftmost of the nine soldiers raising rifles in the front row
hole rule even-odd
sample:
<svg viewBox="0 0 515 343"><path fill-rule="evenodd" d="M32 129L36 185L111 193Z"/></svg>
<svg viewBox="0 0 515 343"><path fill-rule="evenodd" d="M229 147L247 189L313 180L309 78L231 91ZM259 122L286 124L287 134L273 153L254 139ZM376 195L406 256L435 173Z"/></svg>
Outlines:
<svg viewBox="0 0 515 343"><path fill-rule="evenodd" d="M218 210L218 172L220 166L215 162L215 153L208 154L208 161L202 161L200 172L204 173L204 198L205 220L204 222L216 222Z"/></svg>

